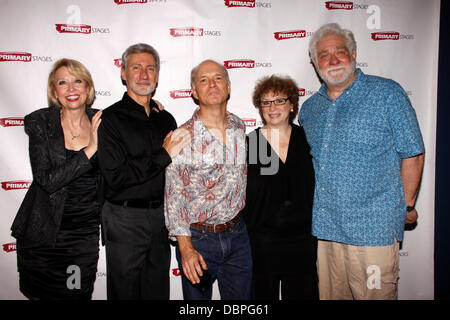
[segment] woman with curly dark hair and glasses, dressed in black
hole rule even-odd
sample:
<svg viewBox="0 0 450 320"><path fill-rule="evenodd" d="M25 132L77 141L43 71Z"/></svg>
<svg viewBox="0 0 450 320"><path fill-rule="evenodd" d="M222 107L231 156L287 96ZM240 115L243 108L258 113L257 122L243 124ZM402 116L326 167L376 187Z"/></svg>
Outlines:
<svg viewBox="0 0 450 320"><path fill-rule="evenodd" d="M311 235L314 169L298 112L298 86L289 77L260 79L253 104L264 123L248 136L244 218L253 255L254 299L318 299Z"/></svg>

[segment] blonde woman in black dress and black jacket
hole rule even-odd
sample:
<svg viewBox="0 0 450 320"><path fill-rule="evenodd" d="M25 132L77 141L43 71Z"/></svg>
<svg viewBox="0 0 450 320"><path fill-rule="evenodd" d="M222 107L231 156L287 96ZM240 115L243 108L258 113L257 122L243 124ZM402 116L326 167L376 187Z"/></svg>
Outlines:
<svg viewBox="0 0 450 320"><path fill-rule="evenodd" d="M19 286L29 299L91 299L99 252L97 129L89 71L55 62L48 108L27 115L33 182L11 227Z"/></svg>

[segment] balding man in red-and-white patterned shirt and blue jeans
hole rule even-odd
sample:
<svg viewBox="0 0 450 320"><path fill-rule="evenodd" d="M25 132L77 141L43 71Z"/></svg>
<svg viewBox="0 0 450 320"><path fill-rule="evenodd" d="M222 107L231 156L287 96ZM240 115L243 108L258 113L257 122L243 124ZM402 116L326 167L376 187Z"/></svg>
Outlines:
<svg viewBox="0 0 450 320"><path fill-rule="evenodd" d="M189 146L166 170L165 216L177 241L186 300L209 300L217 279L221 299L250 298L252 258L245 206L245 124L227 111L231 84L223 65L206 60L191 72L200 105L182 127Z"/></svg>

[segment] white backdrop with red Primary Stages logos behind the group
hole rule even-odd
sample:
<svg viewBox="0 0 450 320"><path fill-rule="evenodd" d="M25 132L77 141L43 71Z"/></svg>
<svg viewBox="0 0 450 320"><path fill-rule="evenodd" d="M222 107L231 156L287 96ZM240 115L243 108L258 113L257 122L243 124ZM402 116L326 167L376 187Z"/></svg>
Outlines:
<svg viewBox="0 0 450 320"><path fill-rule="evenodd" d="M307 48L314 30L329 22L353 30L358 67L399 82L417 112L427 154L420 220L406 232L400 252L399 298L433 299L439 11L439 0L2 0L0 299L24 299L10 235L32 180L23 117L47 106L47 77L56 60L77 59L90 70L94 107L104 109L125 90L122 52L138 42L153 45L162 60L155 98L181 124L196 107L189 91L191 68L215 59L229 69L229 110L245 120L249 132L261 125L251 103L260 77L290 75L299 85L300 103L318 90ZM174 255L170 274L171 298L182 299ZM217 287L213 297L220 297ZM104 248L93 298L106 298Z"/></svg>

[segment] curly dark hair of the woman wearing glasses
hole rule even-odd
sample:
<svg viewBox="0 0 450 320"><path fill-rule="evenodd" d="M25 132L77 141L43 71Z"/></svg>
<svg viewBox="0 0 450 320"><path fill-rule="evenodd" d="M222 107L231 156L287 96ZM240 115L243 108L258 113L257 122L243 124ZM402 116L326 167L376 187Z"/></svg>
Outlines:
<svg viewBox="0 0 450 320"><path fill-rule="evenodd" d="M262 108L260 106L261 97L269 92L273 92L274 94L285 94L287 95L289 101L292 104L294 112L289 114L289 122L295 119L298 113L298 86L295 81L288 76L282 77L277 75L266 76L259 79L256 82L255 89L253 90L253 105L255 108L259 110L259 115L264 124L266 124L266 120L264 120Z"/></svg>

